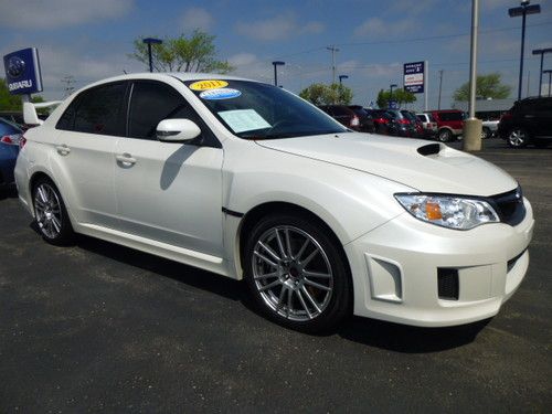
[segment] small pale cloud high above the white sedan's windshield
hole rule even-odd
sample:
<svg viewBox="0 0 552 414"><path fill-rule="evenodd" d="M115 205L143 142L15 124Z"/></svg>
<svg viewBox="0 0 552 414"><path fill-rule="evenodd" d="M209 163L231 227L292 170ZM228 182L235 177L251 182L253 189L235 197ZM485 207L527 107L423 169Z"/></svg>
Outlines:
<svg viewBox="0 0 552 414"><path fill-rule="evenodd" d="M236 24L237 33L262 41L282 40L299 34L317 34L323 30L325 25L321 22L310 21L299 23L297 15L291 12L270 19L255 22L238 22Z"/></svg>

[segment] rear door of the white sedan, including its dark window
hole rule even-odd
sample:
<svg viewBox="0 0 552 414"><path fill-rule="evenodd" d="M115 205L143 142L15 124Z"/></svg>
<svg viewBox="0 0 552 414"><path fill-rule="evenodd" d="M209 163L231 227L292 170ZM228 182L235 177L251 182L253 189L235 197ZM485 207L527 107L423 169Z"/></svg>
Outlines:
<svg viewBox="0 0 552 414"><path fill-rule="evenodd" d="M116 226L114 150L125 135L127 85L84 91L57 121L52 168L79 223Z"/></svg>

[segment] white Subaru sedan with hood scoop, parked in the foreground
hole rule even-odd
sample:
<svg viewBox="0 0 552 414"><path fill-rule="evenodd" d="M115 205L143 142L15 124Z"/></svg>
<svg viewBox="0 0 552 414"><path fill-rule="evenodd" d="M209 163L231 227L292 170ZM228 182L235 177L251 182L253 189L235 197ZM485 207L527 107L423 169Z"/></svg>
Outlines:
<svg viewBox="0 0 552 414"><path fill-rule="evenodd" d="M282 88L205 74L89 85L24 135L22 203L46 242L103 238L234 279L286 327L350 314L495 316L529 265L530 203L443 144L353 132Z"/></svg>

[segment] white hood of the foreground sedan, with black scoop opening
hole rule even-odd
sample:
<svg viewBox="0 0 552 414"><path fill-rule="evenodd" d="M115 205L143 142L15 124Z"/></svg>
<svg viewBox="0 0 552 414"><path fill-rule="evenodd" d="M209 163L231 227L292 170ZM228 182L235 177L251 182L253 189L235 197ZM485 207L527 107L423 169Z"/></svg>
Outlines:
<svg viewBox="0 0 552 414"><path fill-rule="evenodd" d="M517 187L498 167L443 144L371 134L259 140L264 148L351 168L423 192L495 195Z"/></svg>

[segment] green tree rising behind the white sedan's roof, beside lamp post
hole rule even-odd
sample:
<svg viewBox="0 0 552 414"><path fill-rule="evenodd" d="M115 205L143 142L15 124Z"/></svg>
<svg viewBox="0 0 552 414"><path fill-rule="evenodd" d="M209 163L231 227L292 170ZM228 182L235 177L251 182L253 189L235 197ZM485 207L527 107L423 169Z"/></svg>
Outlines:
<svg viewBox="0 0 552 414"><path fill-rule="evenodd" d="M215 59L214 39L201 30L194 30L190 38L183 34L166 38L163 43L151 45L152 67L157 72L232 72L231 64ZM134 46L135 52L129 56L149 67L148 45L140 38L134 41Z"/></svg>

